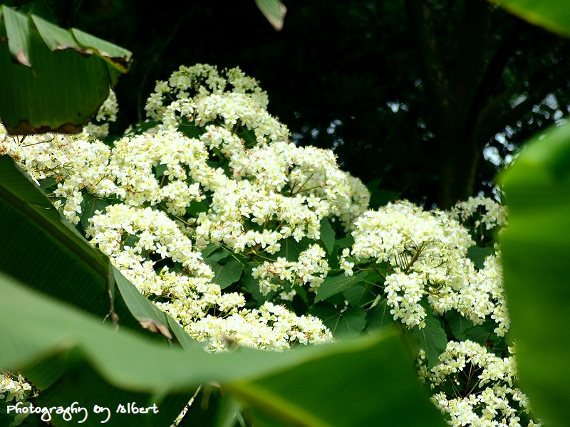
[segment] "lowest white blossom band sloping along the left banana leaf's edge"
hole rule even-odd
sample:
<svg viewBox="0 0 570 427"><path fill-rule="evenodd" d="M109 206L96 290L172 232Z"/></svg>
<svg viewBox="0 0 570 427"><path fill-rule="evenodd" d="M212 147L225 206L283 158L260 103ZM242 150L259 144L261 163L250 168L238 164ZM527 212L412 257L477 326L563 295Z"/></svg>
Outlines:
<svg viewBox="0 0 570 427"><path fill-rule="evenodd" d="M296 316L266 302L259 310L243 308L237 292L222 293L213 273L192 242L162 211L125 204L108 206L90 218L87 236L140 292L155 300L207 349L224 349L230 342L263 349L286 349L331 339L314 317ZM174 268L155 268L170 260ZM180 268L176 268L180 265Z"/></svg>

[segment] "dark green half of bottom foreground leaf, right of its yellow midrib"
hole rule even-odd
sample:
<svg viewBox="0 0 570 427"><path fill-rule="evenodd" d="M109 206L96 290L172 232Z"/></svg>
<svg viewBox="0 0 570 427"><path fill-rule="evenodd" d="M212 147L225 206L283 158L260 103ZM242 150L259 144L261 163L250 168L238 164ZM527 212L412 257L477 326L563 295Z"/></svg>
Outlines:
<svg viewBox="0 0 570 427"><path fill-rule="evenodd" d="M351 369L343 369L346 366ZM354 341L346 352L233 384L228 390L279 421L270 426L444 425L418 388L413 362L404 356L395 333L384 334L373 347L365 339Z"/></svg>

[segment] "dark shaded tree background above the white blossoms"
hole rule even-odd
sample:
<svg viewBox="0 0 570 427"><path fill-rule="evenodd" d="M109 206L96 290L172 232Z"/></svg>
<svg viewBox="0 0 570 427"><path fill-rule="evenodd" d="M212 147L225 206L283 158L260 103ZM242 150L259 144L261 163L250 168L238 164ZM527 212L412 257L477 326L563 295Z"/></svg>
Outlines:
<svg viewBox="0 0 570 427"><path fill-rule="evenodd" d="M295 142L426 206L491 194L519 144L569 112L568 41L484 0L284 1L280 32L254 0L6 3L133 51L117 134L179 65L239 65Z"/></svg>

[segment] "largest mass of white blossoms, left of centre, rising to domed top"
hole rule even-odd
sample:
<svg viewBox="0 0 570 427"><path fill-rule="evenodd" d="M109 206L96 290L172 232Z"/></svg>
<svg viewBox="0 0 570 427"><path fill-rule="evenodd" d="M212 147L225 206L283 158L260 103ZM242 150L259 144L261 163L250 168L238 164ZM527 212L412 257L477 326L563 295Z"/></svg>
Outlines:
<svg viewBox="0 0 570 427"><path fill-rule="evenodd" d="M294 286L315 291L326 277L321 219L348 228L369 196L331 152L291 144L266 103L237 68L182 67L157 83L147 103L156 125L140 135L113 147L87 132L28 144L5 138L0 149L36 181L51 179L63 215L209 349L222 349L225 337L284 349L331 339L316 317L294 315L279 301L291 300ZM310 244L284 258L279 251L291 239ZM245 308L244 295L222 291L200 253L212 243L257 264L259 291L279 290L275 300Z"/></svg>

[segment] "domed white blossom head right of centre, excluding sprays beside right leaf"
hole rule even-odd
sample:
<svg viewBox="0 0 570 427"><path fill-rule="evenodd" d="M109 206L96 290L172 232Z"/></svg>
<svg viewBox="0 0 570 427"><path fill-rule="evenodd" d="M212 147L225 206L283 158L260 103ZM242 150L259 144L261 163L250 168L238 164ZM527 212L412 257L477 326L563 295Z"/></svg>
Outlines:
<svg viewBox="0 0 570 427"><path fill-rule="evenodd" d="M394 320L408 327L424 327L426 312L420 305L424 296L435 312L455 307L457 291L470 267L467 248L473 244L457 221L442 212L427 212L398 201L365 212L352 235L351 255L357 262L371 260L389 266L384 292Z"/></svg>

